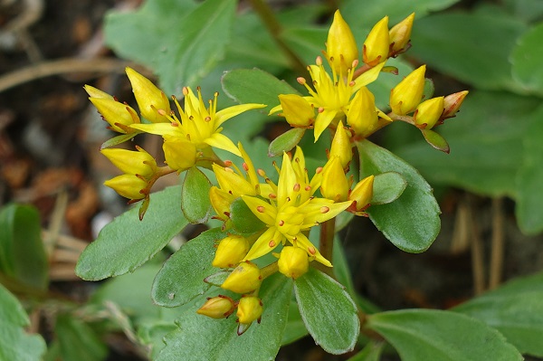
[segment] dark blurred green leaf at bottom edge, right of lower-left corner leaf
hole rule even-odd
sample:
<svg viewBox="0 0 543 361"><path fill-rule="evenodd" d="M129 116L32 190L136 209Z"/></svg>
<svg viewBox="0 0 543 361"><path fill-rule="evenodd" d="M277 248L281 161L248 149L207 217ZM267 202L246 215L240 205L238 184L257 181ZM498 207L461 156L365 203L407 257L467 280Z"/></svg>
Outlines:
<svg viewBox="0 0 543 361"><path fill-rule="evenodd" d="M89 325L78 318L59 316L55 333L63 361L101 361L108 356L108 347Z"/></svg>

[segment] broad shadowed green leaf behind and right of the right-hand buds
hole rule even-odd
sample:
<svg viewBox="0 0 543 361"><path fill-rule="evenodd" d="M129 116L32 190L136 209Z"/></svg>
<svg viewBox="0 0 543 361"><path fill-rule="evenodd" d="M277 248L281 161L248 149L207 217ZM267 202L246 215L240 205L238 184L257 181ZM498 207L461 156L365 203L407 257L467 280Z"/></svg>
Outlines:
<svg viewBox="0 0 543 361"><path fill-rule="evenodd" d="M438 128L451 146L450 155L424 141L393 151L432 184L458 186L480 195L515 196L515 174L523 157L520 145L540 101L506 92L472 91L457 118ZM405 133L405 128L397 130Z"/></svg>

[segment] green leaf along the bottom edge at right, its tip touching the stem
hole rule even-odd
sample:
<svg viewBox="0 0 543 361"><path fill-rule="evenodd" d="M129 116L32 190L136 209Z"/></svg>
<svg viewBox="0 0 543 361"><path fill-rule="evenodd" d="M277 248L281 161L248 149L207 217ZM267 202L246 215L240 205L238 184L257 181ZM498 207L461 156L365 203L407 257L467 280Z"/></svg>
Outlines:
<svg viewBox="0 0 543 361"><path fill-rule="evenodd" d="M513 361L519 351L480 320L441 310L404 309L367 317L402 361Z"/></svg>

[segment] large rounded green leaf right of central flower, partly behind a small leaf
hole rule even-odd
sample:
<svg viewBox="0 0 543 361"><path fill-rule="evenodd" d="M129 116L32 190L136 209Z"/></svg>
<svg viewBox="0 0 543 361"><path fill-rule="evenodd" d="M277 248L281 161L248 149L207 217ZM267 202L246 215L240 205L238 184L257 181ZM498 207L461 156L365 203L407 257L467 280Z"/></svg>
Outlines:
<svg viewBox="0 0 543 361"><path fill-rule="evenodd" d="M360 178L385 172L397 172L407 186L391 204L372 205L369 218L386 238L405 252L424 252L441 228L440 209L432 188L413 166L369 140L357 142Z"/></svg>

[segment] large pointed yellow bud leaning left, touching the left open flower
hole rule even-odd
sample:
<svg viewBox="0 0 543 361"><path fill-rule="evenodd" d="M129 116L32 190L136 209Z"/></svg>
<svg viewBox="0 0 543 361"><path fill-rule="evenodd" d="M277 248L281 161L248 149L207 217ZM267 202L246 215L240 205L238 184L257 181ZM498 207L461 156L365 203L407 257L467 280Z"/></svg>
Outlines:
<svg viewBox="0 0 543 361"><path fill-rule="evenodd" d="M153 123L169 123L169 120L158 114L161 109L169 115L170 106L164 91L159 90L155 84L132 68L126 68L134 96L138 102L138 108L141 115Z"/></svg>

